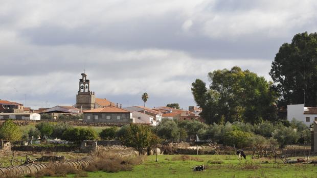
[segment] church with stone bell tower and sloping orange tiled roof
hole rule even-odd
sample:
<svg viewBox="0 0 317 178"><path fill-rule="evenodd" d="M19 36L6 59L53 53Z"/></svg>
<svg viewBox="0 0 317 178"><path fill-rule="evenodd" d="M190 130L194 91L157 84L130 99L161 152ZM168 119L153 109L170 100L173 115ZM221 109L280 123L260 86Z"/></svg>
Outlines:
<svg viewBox="0 0 317 178"><path fill-rule="evenodd" d="M76 95L75 107L80 110L92 110L96 108L103 108L106 106L115 106L114 103L107 99L96 98L95 92L90 91L90 81L87 79L85 73L81 74L79 79L79 90ZM118 108L118 104L116 106ZM120 105L121 107L121 105Z"/></svg>

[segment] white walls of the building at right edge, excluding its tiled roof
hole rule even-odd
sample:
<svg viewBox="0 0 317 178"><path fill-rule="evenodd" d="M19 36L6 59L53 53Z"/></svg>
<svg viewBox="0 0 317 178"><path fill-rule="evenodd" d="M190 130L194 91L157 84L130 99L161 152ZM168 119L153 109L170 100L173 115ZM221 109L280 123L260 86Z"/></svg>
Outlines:
<svg viewBox="0 0 317 178"><path fill-rule="evenodd" d="M287 105L287 120L291 121L295 118L298 121L303 121L307 126L313 123L317 114L304 114L304 104ZM306 122L306 117L309 117L309 122Z"/></svg>

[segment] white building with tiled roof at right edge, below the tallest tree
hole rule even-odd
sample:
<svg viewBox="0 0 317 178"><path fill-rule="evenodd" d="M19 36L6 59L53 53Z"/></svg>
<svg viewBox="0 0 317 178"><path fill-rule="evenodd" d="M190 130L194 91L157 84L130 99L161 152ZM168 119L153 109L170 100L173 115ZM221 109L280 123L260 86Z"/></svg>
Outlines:
<svg viewBox="0 0 317 178"><path fill-rule="evenodd" d="M293 118L309 126L317 120L317 108L304 107L304 104L287 105L287 120L291 121Z"/></svg>

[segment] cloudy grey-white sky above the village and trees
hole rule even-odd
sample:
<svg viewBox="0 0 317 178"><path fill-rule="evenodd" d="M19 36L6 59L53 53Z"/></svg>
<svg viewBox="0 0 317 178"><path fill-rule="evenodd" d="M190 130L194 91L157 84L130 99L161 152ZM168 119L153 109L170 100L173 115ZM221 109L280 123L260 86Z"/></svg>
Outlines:
<svg viewBox="0 0 317 178"><path fill-rule="evenodd" d="M314 1L0 0L0 99L72 106L81 73L123 107L196 106L191 83L240 66L270 81L279 47L317 31Z"/></svg>

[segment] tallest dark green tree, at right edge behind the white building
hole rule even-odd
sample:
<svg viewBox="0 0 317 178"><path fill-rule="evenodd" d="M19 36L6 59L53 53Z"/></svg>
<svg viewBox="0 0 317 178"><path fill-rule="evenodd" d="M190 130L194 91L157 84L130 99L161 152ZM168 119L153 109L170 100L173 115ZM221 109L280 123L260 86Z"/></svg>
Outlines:
<svg viewBox="0 0 317 178"><path fill-rule="evenodd" d="M296 34L284 43L269 72L280 94L279 106L289 104L317 105L317 33ZM304 96L305 90L305 96Z"/></svg>

